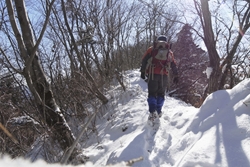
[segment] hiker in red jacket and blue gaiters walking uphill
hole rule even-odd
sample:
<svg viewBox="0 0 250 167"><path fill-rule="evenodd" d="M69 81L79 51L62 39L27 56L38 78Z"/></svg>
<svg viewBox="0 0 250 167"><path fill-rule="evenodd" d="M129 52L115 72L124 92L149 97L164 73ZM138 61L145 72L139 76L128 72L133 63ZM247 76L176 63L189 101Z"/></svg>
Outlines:
<svg viewBox="0 0 250 167"><path fill-rule="evenodd" d="M165 91L170 68L173 72L173 82L178 83L178 72L173 52L167 43L167 37L160 35L154 45L149 47L141 62L141 78L148 82L148 120L154 122L162 116L162 106L165 101Z"/></svg>

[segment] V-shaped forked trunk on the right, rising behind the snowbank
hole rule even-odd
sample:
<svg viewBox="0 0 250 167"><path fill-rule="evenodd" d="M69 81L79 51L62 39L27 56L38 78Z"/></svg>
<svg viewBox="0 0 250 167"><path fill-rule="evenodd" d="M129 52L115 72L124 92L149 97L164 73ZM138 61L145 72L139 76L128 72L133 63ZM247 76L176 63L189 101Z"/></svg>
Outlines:
<svg viewBox="0 0 250 167"><path fill-rule="evenodd" d="M213 28L211 23L211 14L209 11L209 0L200 0L201 2L201 22L204 31L204 42L208 50L209 59L210 59L210 67L213 69L213 72L208 80L208 87L204 93L204 97L208 94L223 89L226 83L226 78L228 77L228 72L231 69L232 60L234 55L236 54L237 47L239 46L243 35L249 29L250 23L250 5L246 4L244 7L239 11L233 11L238 15L239 21L239 33L236 40L233 42L230 51L227 53L227 57L225 60L220 64L220 57L216 50L216 41L214 39ZM237 5L237 4L235 4ZM242 5L243 6L243 5ZM234 7L235 9L237 7ZM243 12L244 11L244 12ZM229 41L228 41L229 42ZM222 69L225 67L225 70ZM231 81L231 86L233 86Z"/></svg>

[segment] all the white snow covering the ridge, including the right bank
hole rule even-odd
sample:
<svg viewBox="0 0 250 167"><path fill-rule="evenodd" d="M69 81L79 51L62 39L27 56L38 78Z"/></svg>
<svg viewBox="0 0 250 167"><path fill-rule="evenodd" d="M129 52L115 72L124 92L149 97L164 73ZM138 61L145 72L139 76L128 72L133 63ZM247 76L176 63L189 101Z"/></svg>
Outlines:
<svg viewBox="0 0 250 167"><path fill-rule="evenodd" d="M85 166L124 166L140 157L133 167L250 166L249 78L233 89L209 95L200 108L166 96L155 130L147 124L147 83L140 79L139 70L126 76L127 91L112 89L109 111L97 122L98 136L84 144L83 154L91 161ZM62 165L4 157L0 166Z"/></svg>

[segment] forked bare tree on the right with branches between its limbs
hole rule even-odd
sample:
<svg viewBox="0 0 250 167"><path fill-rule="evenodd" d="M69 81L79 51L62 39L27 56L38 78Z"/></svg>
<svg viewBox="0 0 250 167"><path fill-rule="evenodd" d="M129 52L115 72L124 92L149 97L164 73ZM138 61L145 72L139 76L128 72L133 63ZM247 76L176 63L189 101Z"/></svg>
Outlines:
<svg viewBox="0 0 250 167"><path fill-rule="evenodd" d="M222 3L225 2L222 1L221 4ZM204 97L206 97L208 94L218 89L222 89L226 83L228 74L230 74L229 71L232 71L232 62L236 56L237 49L242 42L244 34L246 34L250 27L250 4L238 0L234 1L234 3L229 3L232 4L230 12L233 14L233 17L237 18L240 25L237 33L234 33L234 20L226 22L219 17L215 17L216 22L212 22L211 9L209 8L208 0L200 0L200 3L197 0L194 0L194 4L204 33L202 38L209 54L209 67L212 69L212 73L208 79L208 86L204 93ZM217 4L217 11L219 11L221 4ZM220 24L221 27L216 25L218 22L222 23ZM227 32L225 32L222 25L226 27L225 30L227 30ZM218 41L224 38L226 38L226 43L224 43L224 48L226 50L225 56L220 55L217 50ZM223 56L224 58L221 62ZM231 86L233 86L232 82Z"/></svg>

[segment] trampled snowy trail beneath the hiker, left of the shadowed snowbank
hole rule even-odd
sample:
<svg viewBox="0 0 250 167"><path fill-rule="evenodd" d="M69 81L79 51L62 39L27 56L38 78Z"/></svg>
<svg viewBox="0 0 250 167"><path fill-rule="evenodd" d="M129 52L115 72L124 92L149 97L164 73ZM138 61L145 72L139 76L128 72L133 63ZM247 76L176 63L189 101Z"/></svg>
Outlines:
<svg viewBox="0 0 250 167"><path fill-rule="evenodd" d="M166 97L159 129L154 134L155 130L147 124L147 83L140 79L139 72L128 74L128 77L131 84L129 90L116 100L115 111L106 115L112 115L110 123L102 126L104 129L99 129L100 136L104 136L101 141L103 149L97 155L92 155L95 164L115 164L143 157L143 161L134 166L175 165L191 147L194 137L190 136L187 141L182 137L197 109ZM122 132L124 128L126 130Z"/></svg>

